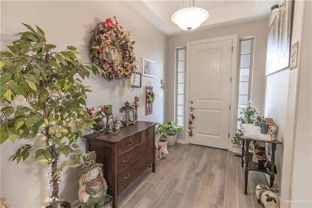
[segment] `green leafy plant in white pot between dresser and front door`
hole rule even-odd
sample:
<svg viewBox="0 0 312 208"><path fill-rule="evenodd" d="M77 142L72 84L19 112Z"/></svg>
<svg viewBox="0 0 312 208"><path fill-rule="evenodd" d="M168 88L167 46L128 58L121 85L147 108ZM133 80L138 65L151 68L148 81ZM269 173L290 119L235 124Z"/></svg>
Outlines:
<svg viewBox="0 0 312 208"><path fill-rule="evenodd" d="M159 142L168 141L169 146L175 145L177 132L181 129L182 128L173 120L167 124L158 124L156 133L160 135Z"/></svg>

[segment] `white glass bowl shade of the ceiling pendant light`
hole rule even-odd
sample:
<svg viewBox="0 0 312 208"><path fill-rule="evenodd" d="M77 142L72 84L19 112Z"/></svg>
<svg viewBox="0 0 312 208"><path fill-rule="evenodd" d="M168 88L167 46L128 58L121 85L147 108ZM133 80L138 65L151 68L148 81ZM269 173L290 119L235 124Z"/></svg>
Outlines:
<svg viewBox="0 0 312 208"><path fill-rule="evenodd" d="M183 30L194 30L208 20L209 13L198 7L180 9L173 14L171 20Z"/></svg>

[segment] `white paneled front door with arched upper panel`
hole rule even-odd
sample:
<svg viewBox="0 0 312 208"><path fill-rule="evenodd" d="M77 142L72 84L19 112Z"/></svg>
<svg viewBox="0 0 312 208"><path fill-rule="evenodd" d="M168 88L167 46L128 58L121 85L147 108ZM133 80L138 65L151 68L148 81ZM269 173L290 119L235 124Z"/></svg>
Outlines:
<svg viewBox="0 0 312 208"><path fill-rule="evenodd" d="M232 42L188 42L188 97L195 116L190 144L229 148Z"/></svg>

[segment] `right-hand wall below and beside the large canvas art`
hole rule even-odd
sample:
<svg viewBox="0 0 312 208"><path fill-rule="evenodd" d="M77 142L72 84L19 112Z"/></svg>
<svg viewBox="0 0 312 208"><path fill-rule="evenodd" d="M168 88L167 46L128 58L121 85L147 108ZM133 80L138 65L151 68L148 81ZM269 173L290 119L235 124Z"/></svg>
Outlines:
<svg viewBox="0 0 312 208"><path fill-rule="evenodd" d="M308 208L312 206L311 1L295 1L292 44L297 41L297 68L267 76L265 116L274 119L277 139L283 142L275 152L279 172L274 181L280 187L281 207Z"/></svg>

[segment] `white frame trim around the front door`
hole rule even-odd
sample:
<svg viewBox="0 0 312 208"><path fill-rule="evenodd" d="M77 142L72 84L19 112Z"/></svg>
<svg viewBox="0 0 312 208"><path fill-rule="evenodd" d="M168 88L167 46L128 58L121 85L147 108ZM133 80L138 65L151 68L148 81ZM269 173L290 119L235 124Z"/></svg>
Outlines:
<svg viewBox="0 0 312 208"><path fill-rule="evenodd" d="M186 43L186 69L185 69L185 109L184 109L184 115L187 116L187 118L184 119L184 126L189 125L189 116L190 116L190 46L195 45L195 44L201 44L201 43L208 43L208 42L216 42L216 41L225 41L225 40L232 40L232 47L233 47L233 52L232 52L232 63L231 63L231 94L230 94L230 105L231 105L231 110L230 110L230 121L229 121L229 133L230 133L230 138L228 141L228 150L233 151L233 145L232 145L232 138L234 137L234 118L235 118L235 92L236 92L236 76L237 76L237 70L236 70L236 65L237 65L237 34L234 35L229 35L229 36L222 36L222 37L216 37L216 38L210 38L210 39L205 39L205 40L199 40L199 41L191 41ZM230 107L230 106L229 106ZM196 119L196 118L195 118ZM187 130L185 130L185 143L189 144L190 141L190 136Z"/></svg>

